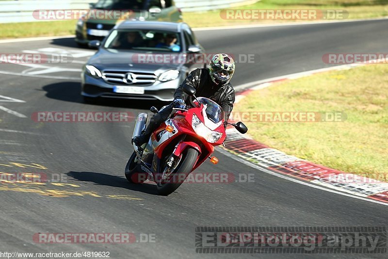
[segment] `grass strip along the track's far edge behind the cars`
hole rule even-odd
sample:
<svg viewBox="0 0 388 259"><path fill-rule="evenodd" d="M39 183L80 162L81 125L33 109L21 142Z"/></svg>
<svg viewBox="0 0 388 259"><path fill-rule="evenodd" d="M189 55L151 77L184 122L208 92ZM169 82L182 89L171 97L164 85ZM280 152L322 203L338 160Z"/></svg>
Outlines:
<svg viewBox="0 0 388 259"><path fill-rule="evenodd" d="M344 9L349 12L350 19L372 18L388 16L388 0L262 0L232 9ZM220 10L184 13L183 20L194 28L291 21L226 20L221 18ZM74 34L75 26L75 20L0 24L0 38Z"/></svg>

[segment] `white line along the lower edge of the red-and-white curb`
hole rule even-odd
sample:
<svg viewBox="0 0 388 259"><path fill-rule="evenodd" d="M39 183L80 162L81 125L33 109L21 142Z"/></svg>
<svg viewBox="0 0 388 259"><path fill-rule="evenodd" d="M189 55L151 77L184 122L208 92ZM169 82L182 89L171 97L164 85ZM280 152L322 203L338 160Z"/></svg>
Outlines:
<svg viewBox="0 0 388 259"><path fill-rule="evenodd" d="M351 198L355 198L355 199L359 199L359 200L369 201L369 202L377 203L377 204L380 204L380 205L388 206L388 203L384 203L384 202L381 202L381 201L376 201L376 200L372 200L372 199L368 199L368 198L363 198L363 197L359 197L359 196L352 195L352 194L345 194L345 193L342 193L342 192L339 192L339 191L335 191L335 190L332 190L332 189L324 188L324 187L317 186L317 185L314 185L314 184L311 184L311 183L308 183L308 182L300 181L300 180L295 179L295 178L290 178L290 177L282 175L282 174L275 173L275 172L270 171L270 170L268 170L266 168L263 168L263 167L261 167L259 165L256 165L256 164L251 163L249 161L246 161L246 160L244 160L242 158L239 158L239 157L229 153L228 151L222 149L221 147L217 147L216 150L218 152L220 152L221 154L224 154L227 157L230 157L230 158L232 158L232 159L234 159L234 160L236 160L238 162L241 162L243 164L247 164L250 167L253 167L255 169L260 170L261 172L273 175L273 176L278 177L278 178L283 178L283 179L286 179L286 180L289 180L289 181L292 181L292 182L303 184L303 185L306 185L306 186L309 186L309 187L312 187L312 188L315 188L315 189L323 190L323 191L326 191L326 192L329 192L329 193L339 194L339 195L343 195L343 196L347 196L347 197L351 197Z"/></svg>

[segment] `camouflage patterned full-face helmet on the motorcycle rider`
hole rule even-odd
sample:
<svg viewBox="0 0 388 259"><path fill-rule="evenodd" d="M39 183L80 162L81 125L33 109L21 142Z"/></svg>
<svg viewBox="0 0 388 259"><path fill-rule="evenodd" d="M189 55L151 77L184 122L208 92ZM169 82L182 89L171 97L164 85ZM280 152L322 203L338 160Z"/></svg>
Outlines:
<svg viewBox="0 0 388 259"><path fill-rule="evenodd" d="M217 85L226 85L234 74L236 64L231 56L220 53L214 55L209 64L211 80Z"/></svg>

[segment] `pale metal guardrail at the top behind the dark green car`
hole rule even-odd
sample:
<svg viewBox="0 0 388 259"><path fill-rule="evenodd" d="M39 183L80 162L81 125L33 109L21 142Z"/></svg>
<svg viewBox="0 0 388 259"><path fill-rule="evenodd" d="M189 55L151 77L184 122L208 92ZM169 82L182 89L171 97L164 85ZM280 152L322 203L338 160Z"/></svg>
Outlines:
<svg viewBox="0 0 388 259"><path fill-rule="evenodd" d="M97 0L10 0L0 1L0 23L33 22L32 12L38 9L88 9ZM183 12L209 11L257 2L257 0L175 0Z"/></svg>

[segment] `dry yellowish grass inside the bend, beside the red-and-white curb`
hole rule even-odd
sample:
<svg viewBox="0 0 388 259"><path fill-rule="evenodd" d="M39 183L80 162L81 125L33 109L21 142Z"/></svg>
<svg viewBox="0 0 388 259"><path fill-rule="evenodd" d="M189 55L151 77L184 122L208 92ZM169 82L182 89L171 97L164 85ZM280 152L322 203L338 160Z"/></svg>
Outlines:
<svg viewBox="0 0 388 259"><path fill-rule="evenodd" d="M259 142L345 172L388 174L388 65L367 65L279 82L233 112L344 112L343 122L247 122ZM387 179L388 175L385 175Z"/></svg>

